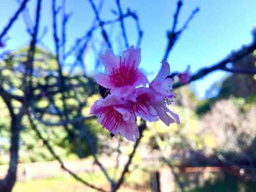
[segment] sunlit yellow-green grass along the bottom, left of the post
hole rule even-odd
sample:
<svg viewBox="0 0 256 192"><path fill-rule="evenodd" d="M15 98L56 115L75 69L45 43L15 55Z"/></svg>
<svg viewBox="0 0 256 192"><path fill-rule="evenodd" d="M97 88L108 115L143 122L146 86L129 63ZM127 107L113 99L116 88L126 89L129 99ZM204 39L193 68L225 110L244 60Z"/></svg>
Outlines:
<svg viewBox="0 0 256 192"><path fill-rule="evenodd" d="M112 175L112 170L110 170L110 175ZM109 190L110 186L106 181L102 173L82 173L79 174L84 180L101 187L103 189ZM142 181L143 178L143 181ZM141 191L140 186L145 186L149 177L144 175L142 172L134 171L131 175L126 178L124 187L120 191ZM137 188L137 190L133 189ZM47 179L35 179L30 182L17 182L13 189L14 192L60 192L60 191L96 191L91 188L84 186L82 183L73 179L72 176L63 175L59 177L52 177ZM143 187L143 191L146 191Z"/></svg>

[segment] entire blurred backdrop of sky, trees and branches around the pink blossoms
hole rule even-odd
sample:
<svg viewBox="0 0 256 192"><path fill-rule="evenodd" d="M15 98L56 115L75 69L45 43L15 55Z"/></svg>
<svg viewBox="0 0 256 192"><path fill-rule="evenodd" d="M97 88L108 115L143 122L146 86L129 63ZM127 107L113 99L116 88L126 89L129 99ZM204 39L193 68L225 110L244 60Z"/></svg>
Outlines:
<svg viewBox="0 0 256 192"><path fill-rule="evenodd" d="M255 1L13 0L0 7L0 188L16 181L13 191L255 190ZM141 48L149 80L166 53L172 73L190 65L197 77L173 78L169 107L181 124L138 119L143 136L135 143L89 116L100 98L98 54L109 47L120 55L131 45ZM203 73L221 61L225 69Z"/></svg>

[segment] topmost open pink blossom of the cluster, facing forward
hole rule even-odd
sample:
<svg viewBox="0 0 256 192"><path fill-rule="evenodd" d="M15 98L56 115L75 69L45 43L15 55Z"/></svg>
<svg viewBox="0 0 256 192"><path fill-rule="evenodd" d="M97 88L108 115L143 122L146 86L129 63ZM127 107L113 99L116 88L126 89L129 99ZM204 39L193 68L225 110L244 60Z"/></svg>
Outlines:
<svg viewBox="0 0 256 192"><path fill-rule="evenodd" d="M105 72L97 74L95 79L104 88L111 89L111 94L127 97L135 93L137 86L148 83L146 76L138 69L141 53L133 46L124 51L121 57L116 57L110 50L99 55ZM130 97L135 100L135 97Z"/></svg>

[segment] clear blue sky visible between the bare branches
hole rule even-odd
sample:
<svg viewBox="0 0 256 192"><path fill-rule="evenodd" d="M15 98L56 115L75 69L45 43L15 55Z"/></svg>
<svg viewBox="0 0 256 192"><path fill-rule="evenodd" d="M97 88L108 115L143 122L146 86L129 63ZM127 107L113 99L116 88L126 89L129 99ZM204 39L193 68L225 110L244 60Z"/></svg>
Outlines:
<svg viewBox="0 0 256 192"><path fill-rule="evenodd" d="M89 29L94 18L93 11L87 0L68 1L67 10L73 12L68 24L68 45ZM41 30L48 26L48 33L44 42L53 50L51 31L51 1L43 1ZM99 1L95 1L98 3ZM173 22L173 14L176 9L174 0L123 0L122 7L130 7L136 10L141 27L144 31L142 39L142 61L141 68L144 69L150 79L158 72L160 61L166 48L166 30L170 29ZM6 25L10 15L17 9L16 0L0 1L1 22L0 29ZM29 3L30 13L34 15L35 0ZM184 1L181 10L180 24L188 17L196 7L200 12L183 33L178 44L169 56L169 63L173 71L184 71L187 65L195 72L199 68L209 66L224 58L232 50L239 49L242 45L251 42L251 30L256 26L256 1L255 0L193 0ZM107 20L114 18L110 9L116 9L115 1L105 0L101 12L101 18ZM22 17L20 17L22 18ZM132 20L127 20L126 28L130 44L136 44L137 33ZM116 26L117 30L119 25ZM10 40L7 42L8 49L22 47L28 42L28 35L22 19L13 26L8 34ZM97 36L95 37L97 39ZM117 41L117 42L115 42ZM114 45L119 45L118 35L112 38ZM117 53L117 52L116 52ZM93 59L91 59L93 62ZM209 86L221 79L226 73L216 72L208 75L202 80L192 83L200 97L204 96Z"/></svg>

